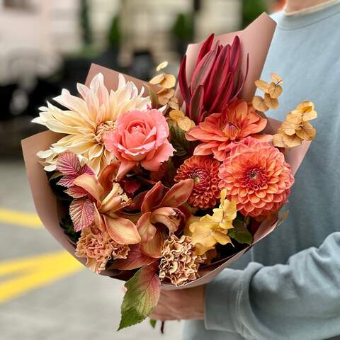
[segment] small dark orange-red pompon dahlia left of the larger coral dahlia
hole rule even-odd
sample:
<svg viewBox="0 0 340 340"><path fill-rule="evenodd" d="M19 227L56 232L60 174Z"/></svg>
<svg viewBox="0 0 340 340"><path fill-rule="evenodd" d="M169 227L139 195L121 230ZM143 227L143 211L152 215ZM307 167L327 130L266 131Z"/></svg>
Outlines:
<svg viewBox="0 0 340 340"><path fill-rule="evenodd" d="M193 179L193 191L188 203L195 208L215 207L220 198L218 190L218 168L220 162L210 156L193 156L179 167L175 181Z"/></svg>

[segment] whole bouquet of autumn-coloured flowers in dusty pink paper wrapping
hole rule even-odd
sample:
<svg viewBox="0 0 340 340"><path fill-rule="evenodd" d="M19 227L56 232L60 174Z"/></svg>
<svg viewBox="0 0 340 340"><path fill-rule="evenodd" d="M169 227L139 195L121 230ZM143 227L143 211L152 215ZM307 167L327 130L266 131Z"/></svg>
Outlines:
<svg viewBox="0 0 340 340"><path fill-rule="evenodd" d="M283 91L276 74L256 80L273 28L263 15L189 46L177 89L171 74L147 84L94 65L79 97L63 90L63 108L33 120L50 130L23 141L40 218L92 271L127 280L120 329L161 285L209 282L278 224L317 113L305 101L282 124L263 114Z"/></svg>

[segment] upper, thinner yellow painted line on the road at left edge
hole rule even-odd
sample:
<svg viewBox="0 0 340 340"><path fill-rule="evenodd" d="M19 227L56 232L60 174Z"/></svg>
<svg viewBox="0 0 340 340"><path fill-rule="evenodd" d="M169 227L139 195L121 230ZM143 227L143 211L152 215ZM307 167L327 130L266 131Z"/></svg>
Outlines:
<svg viewBox="0 0 340 340"><path fill-rule="evenodd" d="M42 228L42 223L37 214L4 208L0 208L0 223L9 223L33 229Z"/></svg>

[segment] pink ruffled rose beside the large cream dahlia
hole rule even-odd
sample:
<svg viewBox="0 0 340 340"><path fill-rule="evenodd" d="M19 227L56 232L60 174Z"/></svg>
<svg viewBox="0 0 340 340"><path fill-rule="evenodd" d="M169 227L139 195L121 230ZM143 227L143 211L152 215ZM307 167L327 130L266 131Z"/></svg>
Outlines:
<svg viewBox="0 0 340 340"><path fill-rule="evenodd" d="M122 179L137 164L157 171L175 151L168 137L168 124L158 110L121 114L115 122L115 130L104 135L106 149L120 161L117 178Z"/></svg>

